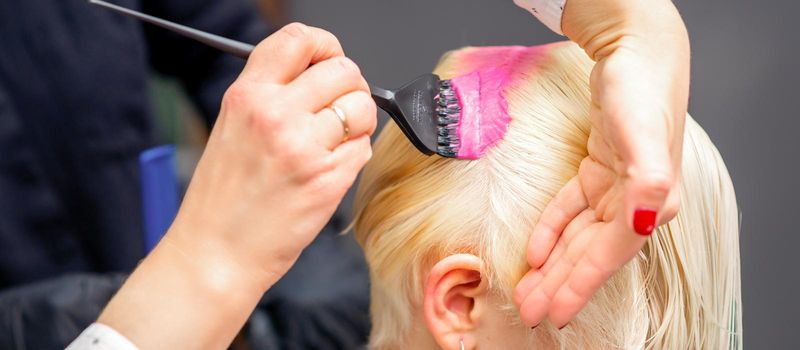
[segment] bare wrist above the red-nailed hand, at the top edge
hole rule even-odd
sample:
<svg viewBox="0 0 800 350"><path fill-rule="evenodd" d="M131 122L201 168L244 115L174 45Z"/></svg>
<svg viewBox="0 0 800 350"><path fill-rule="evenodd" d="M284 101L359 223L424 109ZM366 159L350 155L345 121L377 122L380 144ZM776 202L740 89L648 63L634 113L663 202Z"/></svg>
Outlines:
<svg viewBox="0 0 800 350"><path fill-rule="evenodd" d="M669 0L568 0L561 28L596 61L630 41L688 56L686 27Z"/></svg>

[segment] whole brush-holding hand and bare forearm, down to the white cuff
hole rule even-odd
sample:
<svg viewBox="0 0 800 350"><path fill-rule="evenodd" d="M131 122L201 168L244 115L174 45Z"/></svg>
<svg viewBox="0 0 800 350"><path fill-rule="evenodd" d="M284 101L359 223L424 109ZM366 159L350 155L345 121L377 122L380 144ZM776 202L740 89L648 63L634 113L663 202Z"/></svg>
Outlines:
<svg viewBox="0 0 800 350"><path fill-rule="evenodd" d="M328 106L346 114L343 125ZM227 91L165 238L98 322L142 349L225 348L333 215L371 157L376 107L321 29L259 44Z"/></svg>

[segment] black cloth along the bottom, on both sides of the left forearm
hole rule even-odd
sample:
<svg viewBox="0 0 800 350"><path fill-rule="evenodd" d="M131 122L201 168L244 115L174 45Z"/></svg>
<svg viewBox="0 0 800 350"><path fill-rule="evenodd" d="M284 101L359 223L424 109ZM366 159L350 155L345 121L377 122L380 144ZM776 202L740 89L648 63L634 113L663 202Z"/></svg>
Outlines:
<svg viewBox="0 0 800 350"><path fill-rule="evenodd" d="M367 270L352 237L329 226L267 292L240 337L250 349L363 347ZM0 292L0 349L63 349L91 324L124 275L70 275Z"/></svg>

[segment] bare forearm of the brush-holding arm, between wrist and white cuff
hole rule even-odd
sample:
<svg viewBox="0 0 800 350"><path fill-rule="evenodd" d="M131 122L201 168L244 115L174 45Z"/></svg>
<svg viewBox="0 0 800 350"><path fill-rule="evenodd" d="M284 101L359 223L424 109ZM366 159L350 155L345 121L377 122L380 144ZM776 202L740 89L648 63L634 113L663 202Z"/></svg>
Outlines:
<svg viewBox="0 0 800 350"><path fill-rule="evenodd" d="M248 273L224 250L186 242L170 232L98 322L141 349L227 347L278 276Z"/></svg>

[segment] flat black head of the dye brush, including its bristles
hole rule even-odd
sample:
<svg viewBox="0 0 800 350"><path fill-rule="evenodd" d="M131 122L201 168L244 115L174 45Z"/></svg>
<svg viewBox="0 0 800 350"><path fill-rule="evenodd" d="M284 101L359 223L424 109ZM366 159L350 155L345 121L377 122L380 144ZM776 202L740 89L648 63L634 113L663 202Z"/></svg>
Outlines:
<svg viewBox="0 0 800 350"><path fill-rule="evenodd" d="M411 143L424 154L455 158L461 107L450 81L426 74L392 93L387 103L376 101Z"/></svg>

